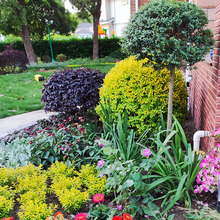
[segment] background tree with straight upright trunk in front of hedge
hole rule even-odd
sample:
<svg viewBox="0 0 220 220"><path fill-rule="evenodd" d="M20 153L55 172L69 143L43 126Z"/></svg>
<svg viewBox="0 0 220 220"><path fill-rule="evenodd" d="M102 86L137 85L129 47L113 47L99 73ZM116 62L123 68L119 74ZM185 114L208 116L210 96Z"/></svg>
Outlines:
<svg viewBox="0 0 220 220"><path fill-rule="evenodd" d="M101 15L101 0L70 0L72 5L85 17L90 13L93 17L93 59L99 57L98 24Z"/></svg>

